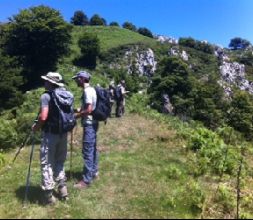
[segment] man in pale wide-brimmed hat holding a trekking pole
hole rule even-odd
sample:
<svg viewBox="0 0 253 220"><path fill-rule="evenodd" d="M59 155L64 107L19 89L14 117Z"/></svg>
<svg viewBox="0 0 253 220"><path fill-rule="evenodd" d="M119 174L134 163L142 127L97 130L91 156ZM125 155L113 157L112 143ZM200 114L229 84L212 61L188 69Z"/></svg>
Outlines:
<svg viewBox="0 0 253 220"><path fill-rule="evenodd" d="M68 199L64 162L67 157L67 132L59 133L57 128L59 113L50 95L55 90L64 89L62 76L59 73L49 72L41 76L45 81L46 92L40 98L40 113L32 130L42 129L42 142L40 147L40 162L42 173L42 190L46 204L54 204L53 196L55 182L61 199Z"/></svg>

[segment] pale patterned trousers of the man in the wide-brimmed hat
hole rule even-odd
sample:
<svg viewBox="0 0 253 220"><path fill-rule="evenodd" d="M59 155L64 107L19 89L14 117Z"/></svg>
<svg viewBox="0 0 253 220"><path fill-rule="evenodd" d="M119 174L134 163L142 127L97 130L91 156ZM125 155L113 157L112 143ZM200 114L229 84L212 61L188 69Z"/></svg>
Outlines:
<svg viewBox="0 0 253 220"><path fill-rule="evenodd" d="M66 181L64 162L67 157L67 133L44 132L40 147L42 189L52 190L55 183Z"/></svg>

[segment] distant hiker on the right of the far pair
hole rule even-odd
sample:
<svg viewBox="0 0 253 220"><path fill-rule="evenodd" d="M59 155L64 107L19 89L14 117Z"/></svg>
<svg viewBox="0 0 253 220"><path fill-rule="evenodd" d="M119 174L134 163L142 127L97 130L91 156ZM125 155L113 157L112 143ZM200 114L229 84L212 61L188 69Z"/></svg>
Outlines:
<svg viewBox="0 0 253 220"><path fill-rule="evenodd" d="M126 95L126 83L125 80L121 80L115 88L115 100L116 100L116 117L121 117L125 113L125 95Z"/></svg>

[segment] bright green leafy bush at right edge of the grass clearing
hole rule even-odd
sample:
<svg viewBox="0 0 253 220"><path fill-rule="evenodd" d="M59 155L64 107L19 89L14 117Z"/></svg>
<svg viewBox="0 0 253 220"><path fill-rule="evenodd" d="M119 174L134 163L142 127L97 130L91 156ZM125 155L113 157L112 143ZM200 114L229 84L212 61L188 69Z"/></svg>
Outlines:
<svg viewBox="0 0 253 220"><path fill-rule="evenodd" d="M206 128L197 128L189 137L188 149L192 150L195 174L211 171L215 174L223 172L232 174L236 170L238 155L236 148L226 145L214 132Z"/></svg>

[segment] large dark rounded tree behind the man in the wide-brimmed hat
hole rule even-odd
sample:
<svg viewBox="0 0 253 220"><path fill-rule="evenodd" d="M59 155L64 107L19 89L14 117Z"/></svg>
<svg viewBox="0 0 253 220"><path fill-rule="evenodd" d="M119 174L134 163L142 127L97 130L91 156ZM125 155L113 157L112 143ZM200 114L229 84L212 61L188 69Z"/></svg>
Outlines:
<svg viewBox="0 0 253 220"><path fill-rule="evenodd" d="M60 13L46 6L31 7L10 18L4 28L4 50L24 67L26 88L42 83L41 75L56 70L69 52L70 29Z"/></svg>

